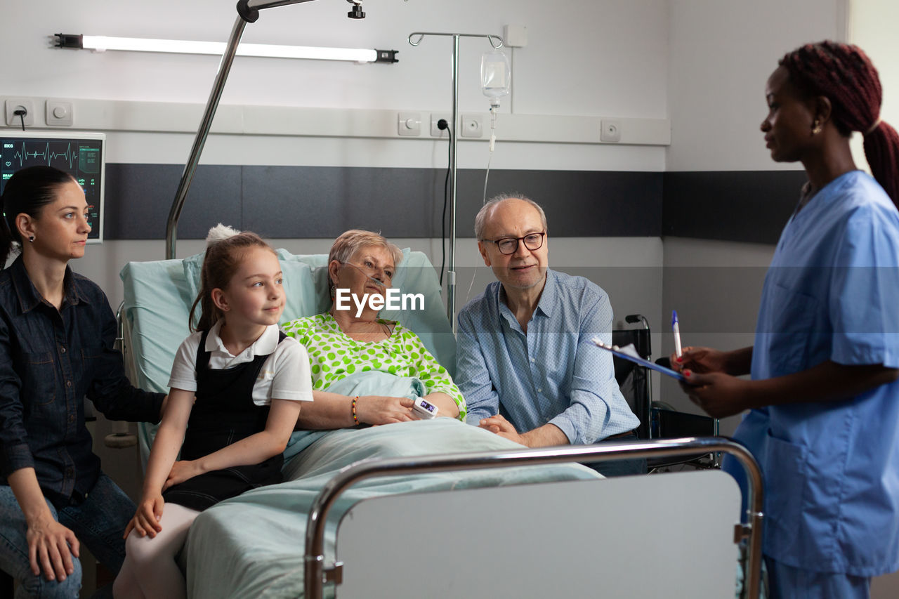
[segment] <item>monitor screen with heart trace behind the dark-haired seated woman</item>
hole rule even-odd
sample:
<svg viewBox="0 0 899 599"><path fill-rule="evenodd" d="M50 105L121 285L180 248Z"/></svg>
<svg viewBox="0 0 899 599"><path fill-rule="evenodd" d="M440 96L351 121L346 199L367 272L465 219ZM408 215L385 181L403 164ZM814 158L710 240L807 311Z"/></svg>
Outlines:
<svg viewBox="0 0 899 599"><path fill-rule="evenodd" d="M0 130L0 193L16 171L28 166L54 166L72 174L85 190L91 225L87 241L99 243L103 238L105 146L105 133Z"/></svg>

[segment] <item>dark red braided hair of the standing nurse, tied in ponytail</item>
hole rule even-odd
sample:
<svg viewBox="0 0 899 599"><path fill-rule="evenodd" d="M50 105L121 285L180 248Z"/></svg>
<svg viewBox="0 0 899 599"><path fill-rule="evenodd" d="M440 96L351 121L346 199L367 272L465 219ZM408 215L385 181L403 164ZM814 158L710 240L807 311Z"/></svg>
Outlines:
<svg viewBox="0 0 899 599"><path fill-rule="evenodd" d="M871 174L899 206L899 134L880 121L883 90L868 55L858 46L820 41L789 52L779 65L803 93L831 101L833 124L843 136L861 131Z"/></svg>

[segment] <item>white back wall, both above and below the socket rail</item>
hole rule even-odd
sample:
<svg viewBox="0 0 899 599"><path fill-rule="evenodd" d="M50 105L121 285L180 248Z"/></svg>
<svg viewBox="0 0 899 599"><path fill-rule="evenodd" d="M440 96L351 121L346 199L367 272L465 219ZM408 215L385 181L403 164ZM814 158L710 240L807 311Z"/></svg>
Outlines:
<svg viewBox="0 0 899 599"><path fill-rule="evenodd" d="M254 43L399 49L395 65L237 58L222 96L237 105L449 112L449 38L428 37L414 48L412 31L502 34L503 25L528 28L528 45L510 49L512 97L503 100L492 168L662 171L659 147L503 143L503 114L665 118L668 3L568 0L378 0L363 5L367 17L347 19L349 5L323 0L261 13L246 27ZM52 14L52 19L47 15ZM236 19L231 0L165 0L122 3L47 0L4 10L0 51L22 57L4 66L4 94L106 101L206 102L218 58L134 52L94 53L50 48L49 34L90 33L169 39L226 40ZM463 38L459 60L459 111L485 112L480 55L486 40ZM614 57L614 59L610 59ZM174 105L174 104L173 104ZM40 108L39 108L40 110ZM76 112L77 121L77 112ZM199 123L199 116L197 118ZM108 161L182 164L192 134L108 132ZM461 168L483 168L486 142L459 146ZM216 135L203 164L443 167L446 142L429 139L356 139ZM174 189L172 190L174 196ZM544 199L549 201L551 199ZM190 201L190 197L188 197ZM437 201L437 199L434 199ZM460 230L467 226L460 223ZM276 242L278 243L278 242ZM432 241L409 240L415 248ZM656 244L647 240L648 249ZM313 243L316 251L322 244ZM200 246L179 242L177 254ZM118 272L129 260L164 256L163 244L111 241L92 246L76 265L110 295L120 297ZM432 254L433 259L439 259ZM583 259L583 264L591 261ZM661 256L660 256L661 260ZM580 263L575 263L580 264ZM661 265L661 261L656 265Z"/></svg>

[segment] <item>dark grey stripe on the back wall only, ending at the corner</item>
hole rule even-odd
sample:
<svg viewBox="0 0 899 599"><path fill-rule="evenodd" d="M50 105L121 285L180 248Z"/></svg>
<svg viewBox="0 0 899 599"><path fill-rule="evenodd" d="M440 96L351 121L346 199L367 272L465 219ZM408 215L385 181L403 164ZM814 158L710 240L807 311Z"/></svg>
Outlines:
<svg viewBox="0 0 899 599"><path fill-rule="evenodd" d="M104 235L161 239L182 165L106 165ZM200 239L219 221L263 237L333 238L347 228L440 237L446 171L430 168L200 165L178 224ZM487 194L539 201L555 237L659 237L663 174L492 170ZM458 171L458 237L472 237L484 171ZM449 223L448 223L449 227Z"/></svg>

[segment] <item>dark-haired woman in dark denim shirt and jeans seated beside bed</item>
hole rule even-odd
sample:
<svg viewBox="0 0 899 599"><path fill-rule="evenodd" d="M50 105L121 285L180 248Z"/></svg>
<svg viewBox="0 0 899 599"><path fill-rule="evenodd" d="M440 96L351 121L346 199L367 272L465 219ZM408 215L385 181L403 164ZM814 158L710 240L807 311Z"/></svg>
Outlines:
<svg viewBox="0 0 899 599"><path fill-rule="evenodd" d="M113 349L116 322L85 255L85 193L49 166L13 174L3 194L0 265L0 569L16 596L76 597L79 540L115 574L135 506L91 451L84 398L111 420L157 422L165 397L135 389Z"/></svg>

